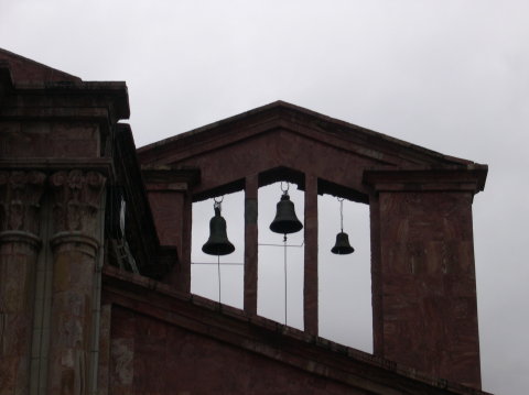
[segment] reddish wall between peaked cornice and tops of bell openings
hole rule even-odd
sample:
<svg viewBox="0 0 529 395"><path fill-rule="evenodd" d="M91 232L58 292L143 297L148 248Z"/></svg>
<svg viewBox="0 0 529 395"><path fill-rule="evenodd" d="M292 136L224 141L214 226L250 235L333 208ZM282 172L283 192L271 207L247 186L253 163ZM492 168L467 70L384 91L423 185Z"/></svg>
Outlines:
<svg viewBox="0 0 529 395"><path fill-rule="evenodd" d="M195 156L192 153L192 150L180 153L171 163L201 169L201 183L193 189L193 194L245 179L248 175L259 174L278 166L301 173L307 172L367 194L361 183L364 168L382 164L379 161L354 156L347 151L281 130L237 142L229 149L204 151Z"/></svg>

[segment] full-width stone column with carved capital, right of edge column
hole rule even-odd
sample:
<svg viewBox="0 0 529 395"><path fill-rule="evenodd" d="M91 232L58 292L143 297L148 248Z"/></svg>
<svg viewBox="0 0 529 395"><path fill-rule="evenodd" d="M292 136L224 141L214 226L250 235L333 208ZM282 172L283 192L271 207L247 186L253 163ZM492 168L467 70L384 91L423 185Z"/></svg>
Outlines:
<svg viewBox="0 0 529 395"><path fill-rule="evenodd" d="M47 388L48 394L86 394L105 177L76 169L57 172L50 183L55 233Z"/></svg>

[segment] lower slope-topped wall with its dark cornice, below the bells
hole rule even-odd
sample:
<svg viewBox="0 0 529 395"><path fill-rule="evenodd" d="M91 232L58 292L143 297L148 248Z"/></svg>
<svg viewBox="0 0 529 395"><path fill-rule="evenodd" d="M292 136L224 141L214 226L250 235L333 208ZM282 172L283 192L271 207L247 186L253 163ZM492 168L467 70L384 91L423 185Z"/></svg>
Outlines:
<svg viewBox="0 0 529 395"><path fill-rule="evenodd" d="M166 284L104 273L111 393L484 394Z"/></svg>

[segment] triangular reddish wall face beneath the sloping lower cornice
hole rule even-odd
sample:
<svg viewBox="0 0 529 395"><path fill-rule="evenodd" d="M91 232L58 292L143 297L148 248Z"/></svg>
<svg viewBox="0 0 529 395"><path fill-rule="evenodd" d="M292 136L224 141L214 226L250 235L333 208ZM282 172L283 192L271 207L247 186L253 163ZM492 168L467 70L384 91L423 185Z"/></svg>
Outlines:
<svg viewBox="0 0 529 395"><path fill-rule="evenodd" d="M114 307L111 394L366 394Z"/></svg>

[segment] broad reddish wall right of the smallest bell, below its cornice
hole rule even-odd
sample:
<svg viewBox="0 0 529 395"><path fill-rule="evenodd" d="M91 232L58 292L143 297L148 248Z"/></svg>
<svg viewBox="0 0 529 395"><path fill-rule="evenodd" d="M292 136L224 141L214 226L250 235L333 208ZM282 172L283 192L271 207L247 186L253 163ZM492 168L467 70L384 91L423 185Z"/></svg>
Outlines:
<svg viewBox="0 0 529 395"><path fill-rule="evenodd" d="M380 193L376 352L481 386L471 193ZM376 220L375 220L376 222Z"/></svg>

